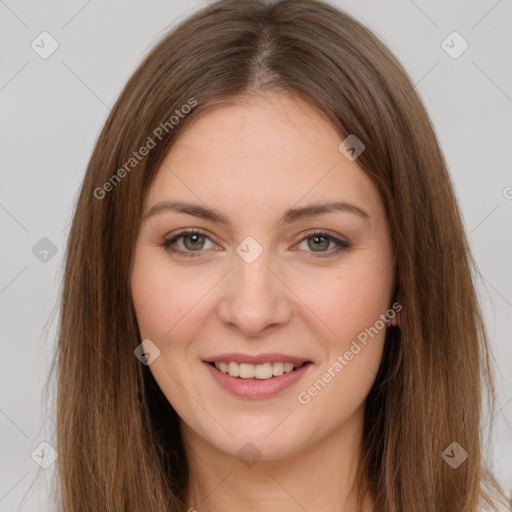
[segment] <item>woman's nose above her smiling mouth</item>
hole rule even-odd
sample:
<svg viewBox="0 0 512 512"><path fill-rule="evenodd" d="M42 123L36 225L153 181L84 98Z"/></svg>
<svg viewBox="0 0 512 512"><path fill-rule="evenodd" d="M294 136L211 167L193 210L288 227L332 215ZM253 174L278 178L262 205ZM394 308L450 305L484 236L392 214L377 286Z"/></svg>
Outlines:
<svg viewBox="0 0 512 512"><path fill-rule="evenodd" d="M221 321L248 338L286 325L292 314L293 294L277 275L268 251L252 263L235 254L233 265L218 305Z"/></svg>

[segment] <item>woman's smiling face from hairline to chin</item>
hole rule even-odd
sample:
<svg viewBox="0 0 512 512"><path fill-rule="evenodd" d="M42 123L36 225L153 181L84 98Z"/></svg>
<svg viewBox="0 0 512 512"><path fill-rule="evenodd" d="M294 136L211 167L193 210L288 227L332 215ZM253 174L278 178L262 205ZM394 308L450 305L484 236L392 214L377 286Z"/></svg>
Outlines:
<svg viewBox="0 0 512 512"><path fill-rule="evenodd" d="M341 142L272 94L198 117L158 170L131 286L188 438L272 460L360 432L393 254L379 194Z"/></svg>

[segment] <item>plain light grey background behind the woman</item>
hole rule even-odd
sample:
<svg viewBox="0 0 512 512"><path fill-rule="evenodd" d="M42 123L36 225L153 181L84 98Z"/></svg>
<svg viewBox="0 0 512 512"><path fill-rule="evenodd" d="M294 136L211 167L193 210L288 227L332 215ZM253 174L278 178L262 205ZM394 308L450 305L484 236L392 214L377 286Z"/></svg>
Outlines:
<svg viewBox="0 0 512 512"><path fill-rule="evenodd" d="M512 3L335 3L373 29L402 62L445 153L480 272L497 371L495 416L483 425L485 433L492 428L487 453L510 488ZM0 512L50 510L47 481L55 464L43 470L31 454L41 442L55 445L43 396L57 317L50 319L75 195L95 140L148 49L204 5L0 0ZM47 59L31 47L34 40L42 46L43 31L58 43ZM454 31L469 45L458 58L453 55L464 42L450 36ZM444 48L452 56L442 46L448 36ZM49 39L44 46L50 48ZM48 249L44 237L55 255L41 252Z"/></svg>

